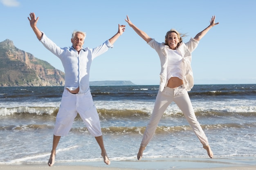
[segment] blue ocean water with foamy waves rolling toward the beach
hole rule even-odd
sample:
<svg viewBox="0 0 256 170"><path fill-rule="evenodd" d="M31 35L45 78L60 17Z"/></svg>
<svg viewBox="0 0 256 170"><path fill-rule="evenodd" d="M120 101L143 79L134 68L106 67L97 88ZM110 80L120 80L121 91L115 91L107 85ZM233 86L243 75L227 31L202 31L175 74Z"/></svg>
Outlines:
<svg viewBox="0 0 256 170"><path fill-rule="evenodd" d="M111 161L136 160L158 85L91 86ZM0 87L0 164L47 163L63 87ZM189 92L214 157L256 157L256 84L195 85ZM61 137L58 162L102 161L79 116ZM168 106L144 159L207 158L175 103ZM255 160L255 159L254 159Z"/></svg>

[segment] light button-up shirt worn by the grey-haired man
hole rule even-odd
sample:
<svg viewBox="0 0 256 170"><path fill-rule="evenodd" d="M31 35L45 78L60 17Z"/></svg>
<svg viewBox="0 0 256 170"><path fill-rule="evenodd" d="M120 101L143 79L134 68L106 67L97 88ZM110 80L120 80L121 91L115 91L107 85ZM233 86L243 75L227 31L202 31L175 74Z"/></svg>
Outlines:
<svg viewBox="0 0 256 170"><path fill-rule="evenodd" d="M47 38L45 33L43 33L40 42L42 42L49 51L61 59L65 71L64 88L68 88L72 91L79 87L79 93L85 93L90 90L89 75L92 60L108 51L110 47L113 47L107 40L94 49L86 47L85 49L81 49L78 53L73 47L60 48L52 42L52 40Z"/></svg>

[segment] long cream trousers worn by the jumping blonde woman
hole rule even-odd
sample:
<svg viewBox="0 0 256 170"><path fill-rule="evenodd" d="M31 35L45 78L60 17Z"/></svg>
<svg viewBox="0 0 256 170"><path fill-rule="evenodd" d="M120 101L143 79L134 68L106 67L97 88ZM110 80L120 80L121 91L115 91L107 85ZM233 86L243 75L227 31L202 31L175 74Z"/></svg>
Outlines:
<svg viewBox="0 0 256 170"><path fill-rule="evenodd" d="M182 85L177 88L165 87L162 92L158 91L155 106L144 132L141 146L146 147L148 145L149 141L152 139L155 133L160 118L164 114L164 111L169 106L169 104L171 104L171 102L175 102L180 110L182 110L182 113L184 114L186 120L189 122L200 142L203 145L209 145L208 139L195 117L195 112L193 110L189 94L184 88L184 85Z"/></svg>

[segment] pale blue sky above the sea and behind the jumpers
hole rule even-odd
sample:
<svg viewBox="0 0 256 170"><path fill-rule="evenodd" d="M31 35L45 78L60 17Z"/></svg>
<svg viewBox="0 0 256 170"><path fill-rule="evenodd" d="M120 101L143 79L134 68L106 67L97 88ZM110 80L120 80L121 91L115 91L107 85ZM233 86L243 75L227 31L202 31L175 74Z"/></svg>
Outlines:
<svg viewBox="0 0 256 170"><path fill-rule="evenodd" d="M118 24L126 31L114 48L97 57L90 81L130 80L159 84L157 53L125 22L130 20L158 42L172 28L189 38L216 22L192 53L195 84L256 84L255 0L0 0L0 42L9 39L21 50L63 71L61 61L37 40L27 17L39 16L38 28L58 46L71 46L71 33L87 33L84 47L94 48L111 38Z"/></svg>

